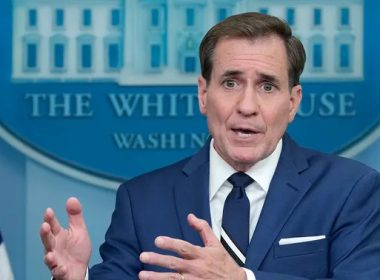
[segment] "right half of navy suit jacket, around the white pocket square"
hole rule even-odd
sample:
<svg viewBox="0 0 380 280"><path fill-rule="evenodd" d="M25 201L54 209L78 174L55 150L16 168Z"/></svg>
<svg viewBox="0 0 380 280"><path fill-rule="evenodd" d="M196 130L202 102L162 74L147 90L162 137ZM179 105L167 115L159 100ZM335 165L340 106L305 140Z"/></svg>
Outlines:
<svg viewBox="0 0 380 280"><path fill-rule="evenodd" d="M283 143L246 265L257 279L277 279L271 273L378 279L380 269L360 268L378 267L380 258L380 174L354 160L301 148L287 135ZM280 245L315 236L324 238Z"/></svg>

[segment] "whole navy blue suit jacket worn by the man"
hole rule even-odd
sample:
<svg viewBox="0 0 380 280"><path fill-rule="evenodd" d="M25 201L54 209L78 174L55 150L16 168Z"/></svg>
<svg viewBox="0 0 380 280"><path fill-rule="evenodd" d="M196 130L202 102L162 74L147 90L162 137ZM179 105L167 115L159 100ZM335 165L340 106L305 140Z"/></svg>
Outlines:
<svg viewBox="0 0 380 280"><path fill-rule="evenodd" d="M380 279L380 174L353 160L298 147L283 149L249 245L246 267L257 280ZM197 154L121 185L103 262L90 280L137 279L139 261L159 235L203 245L187 224L194 213L210 223L209 143ZM326 239L279 245L281 238Z"/></svg>

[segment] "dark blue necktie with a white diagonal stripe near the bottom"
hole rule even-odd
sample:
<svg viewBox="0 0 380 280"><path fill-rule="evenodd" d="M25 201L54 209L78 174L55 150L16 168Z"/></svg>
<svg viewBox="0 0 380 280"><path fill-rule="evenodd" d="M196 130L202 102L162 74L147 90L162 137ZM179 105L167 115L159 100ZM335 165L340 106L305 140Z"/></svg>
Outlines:
<svg viewBox="0 0 380 280"><path fill-rule="evenodd" d="M237 172L227 180L233 188L224 202L221 242L232 258L243 266L249 244L250 213L245 188L253 179L243 172Z"/></svg>

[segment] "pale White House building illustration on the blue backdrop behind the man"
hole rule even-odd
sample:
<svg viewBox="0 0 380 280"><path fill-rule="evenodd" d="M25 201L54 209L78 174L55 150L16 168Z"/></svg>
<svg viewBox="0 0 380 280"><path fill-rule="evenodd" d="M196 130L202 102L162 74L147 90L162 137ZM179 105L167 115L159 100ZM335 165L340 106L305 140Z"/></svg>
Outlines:
<svg viewBox="0 0 380 280"><path fill-rule="evenodd" d="M291 25L304 81L363 79L363 0L13 0L12 79L195 84L205 32L245 11Z"/></svg>

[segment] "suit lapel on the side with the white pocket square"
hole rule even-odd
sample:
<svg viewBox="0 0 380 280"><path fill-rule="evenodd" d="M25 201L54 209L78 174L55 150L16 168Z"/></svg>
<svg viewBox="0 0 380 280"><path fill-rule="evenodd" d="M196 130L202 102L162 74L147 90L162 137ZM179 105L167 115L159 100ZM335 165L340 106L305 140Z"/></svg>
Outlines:
<svg viewBox="0 0 380 280"><path fill-rule="evenodd" d="M248 248L247 267L259 268L294 208L309 189L310 182L299 174L307 167L300 149L285 135L279 163Z"/></svg>

